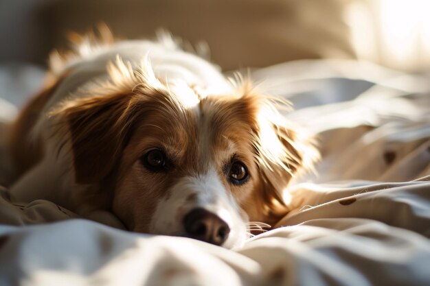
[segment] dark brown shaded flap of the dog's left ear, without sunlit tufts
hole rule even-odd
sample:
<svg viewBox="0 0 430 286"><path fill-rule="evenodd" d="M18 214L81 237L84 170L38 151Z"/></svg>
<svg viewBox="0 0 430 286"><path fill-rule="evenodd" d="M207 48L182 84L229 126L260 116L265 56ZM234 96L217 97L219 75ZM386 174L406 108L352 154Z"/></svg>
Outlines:
<svg viewBox="0 0 430 286"><path fill-rule="evenodd" d="M119 162L131 134L130 99L131 93L93 96L56 111L69 130L76 182L100 182Z"/></svg>

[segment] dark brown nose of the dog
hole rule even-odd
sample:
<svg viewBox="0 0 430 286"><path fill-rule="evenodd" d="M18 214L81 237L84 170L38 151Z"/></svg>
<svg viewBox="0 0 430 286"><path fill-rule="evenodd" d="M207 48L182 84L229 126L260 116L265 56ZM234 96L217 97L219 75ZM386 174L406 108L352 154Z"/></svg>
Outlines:
<svg viewBox="0 0 430 286"><path fill-rule="evenodd" d="M204 208L194 208L183 218L187 236L220 246L230 233L229 226L218 215Z"/></svg>

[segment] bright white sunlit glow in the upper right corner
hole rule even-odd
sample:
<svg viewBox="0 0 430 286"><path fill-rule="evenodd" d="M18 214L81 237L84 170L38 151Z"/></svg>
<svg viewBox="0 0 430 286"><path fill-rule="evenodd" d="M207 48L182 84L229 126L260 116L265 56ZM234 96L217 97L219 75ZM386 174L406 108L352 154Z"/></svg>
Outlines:
<svg viewBox="0 0 430 286"><path fill-rule="evenodd" d="M350 1L345 20L358 58L406 71L429 70L429 0Z"/></svg>

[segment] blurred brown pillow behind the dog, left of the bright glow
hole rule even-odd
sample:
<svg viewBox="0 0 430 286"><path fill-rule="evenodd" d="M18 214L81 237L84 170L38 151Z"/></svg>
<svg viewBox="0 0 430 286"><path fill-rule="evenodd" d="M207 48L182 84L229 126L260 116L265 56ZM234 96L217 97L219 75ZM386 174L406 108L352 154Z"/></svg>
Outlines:
<svg viewBox="0 0 430 286"><path fill-rule="evenodd" d="M65 32L103 21L116 36L154 36L166 28L193 45L205 41L223 70L304 58L354 58L343 0L74 0L45 9L53 46Z"/></svg>

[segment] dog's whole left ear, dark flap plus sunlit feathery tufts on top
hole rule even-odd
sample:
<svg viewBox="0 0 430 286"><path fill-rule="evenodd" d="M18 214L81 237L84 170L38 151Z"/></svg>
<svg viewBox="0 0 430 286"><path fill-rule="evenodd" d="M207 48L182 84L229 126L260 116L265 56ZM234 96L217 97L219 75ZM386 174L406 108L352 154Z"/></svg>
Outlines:
<svg viewBox="0 0 430 286"><path fill-rule="evenodd" d="M71 136L76 182L91 184L109 176L119 163L133 127L146 114L151 97L166 93L149 62L137 71L119 57L108 64L111 80L89 85L89 96L66 99L52 115ZM161 96L162 97L162 96Z"/></svg>

